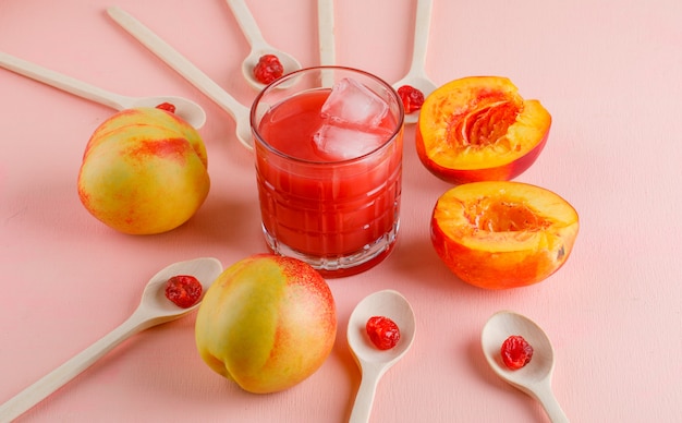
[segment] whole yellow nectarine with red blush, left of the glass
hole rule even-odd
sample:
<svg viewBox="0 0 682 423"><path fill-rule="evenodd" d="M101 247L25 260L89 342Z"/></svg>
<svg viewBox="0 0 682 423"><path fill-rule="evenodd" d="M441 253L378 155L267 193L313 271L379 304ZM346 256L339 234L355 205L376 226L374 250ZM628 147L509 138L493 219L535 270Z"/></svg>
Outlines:
<svg viewBox="0 0 682 423"><path fill-rule="evenodd" d="M130 234L166 232L208 195L206 148L188 123L155 108L115 113L90 137L78 197L107 226Z"/></svg>

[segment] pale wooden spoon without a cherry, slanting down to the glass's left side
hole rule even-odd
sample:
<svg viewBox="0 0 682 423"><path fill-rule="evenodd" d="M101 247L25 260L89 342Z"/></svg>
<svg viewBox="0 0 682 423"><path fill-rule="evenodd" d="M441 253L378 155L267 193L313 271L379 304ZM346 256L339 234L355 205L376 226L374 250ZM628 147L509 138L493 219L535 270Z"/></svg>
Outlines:
<svg viewBox="0 0 682 423"><path fill-rule="evenodd" d="M135 37L143 46L163 60L169 67L181 74L185 80L197 87L207 97L212 99L224 111L230 113L236 122L236 137L247 149L253 149L251 134L251 110L216 84L208 75L202 72L194 63L172 48L168 43L153 33L135 17L119 7L107 10L109 16L121 27Z"/></svg>

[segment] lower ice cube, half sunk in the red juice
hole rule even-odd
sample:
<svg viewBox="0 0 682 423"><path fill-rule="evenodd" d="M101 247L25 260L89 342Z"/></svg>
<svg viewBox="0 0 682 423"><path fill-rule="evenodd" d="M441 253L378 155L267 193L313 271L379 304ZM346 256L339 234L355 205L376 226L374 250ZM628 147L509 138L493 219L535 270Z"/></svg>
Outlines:
<svg viewBox="0 0 682 423"><path fill-rule="evenodd" d="M333 123L322 124L313 135L317 152L330 160L348 160L366 155L383 144L391 134Z"/></svg>

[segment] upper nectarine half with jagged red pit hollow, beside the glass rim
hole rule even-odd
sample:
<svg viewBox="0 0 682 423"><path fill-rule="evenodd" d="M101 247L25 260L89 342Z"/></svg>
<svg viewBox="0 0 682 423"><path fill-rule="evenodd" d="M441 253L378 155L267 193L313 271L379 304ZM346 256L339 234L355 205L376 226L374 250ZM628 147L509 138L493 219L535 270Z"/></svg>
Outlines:
<svg viewBox="0 0 682 423"><path fill-rule="evenodd" d="M426 98L416 150L426 169L447 182L506 181L535 162L550 126L549 112L524 100L509 78L464 77Z"/></svg>

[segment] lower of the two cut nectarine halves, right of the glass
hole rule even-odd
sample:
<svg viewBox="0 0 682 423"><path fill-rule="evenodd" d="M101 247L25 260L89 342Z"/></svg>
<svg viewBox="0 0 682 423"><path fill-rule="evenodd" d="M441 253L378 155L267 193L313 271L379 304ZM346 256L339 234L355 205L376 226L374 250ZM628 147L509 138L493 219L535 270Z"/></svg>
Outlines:
<svg viewBox="0 0 682 423"><path fill-rule="evenodd" d="M507 289L537 283L565 263L579 216L539 186L472 182L438 200L430 228L436 253L461 280Z"/></svg>

